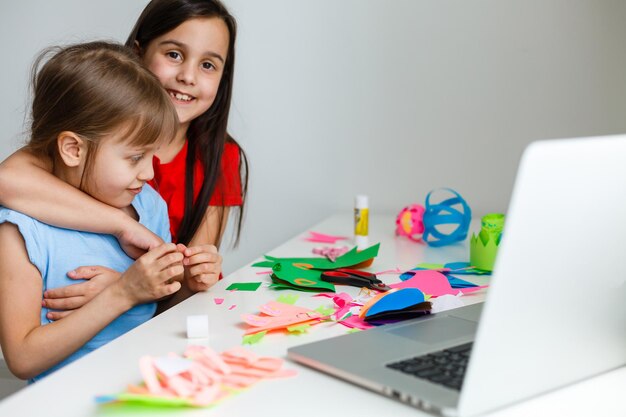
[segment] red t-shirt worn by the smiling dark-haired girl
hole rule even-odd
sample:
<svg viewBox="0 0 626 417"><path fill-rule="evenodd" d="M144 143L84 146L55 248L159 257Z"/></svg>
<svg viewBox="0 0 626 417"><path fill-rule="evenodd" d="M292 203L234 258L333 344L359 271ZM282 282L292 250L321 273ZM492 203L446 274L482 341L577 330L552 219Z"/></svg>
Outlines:
<svg viewBox="0 0 626 417"><path fill-rule="evenodd" d="M169 163L162 164L156 156L152 161L154 179L149 183L156 189L167 203L170 216L170 231L172 240L180 227L185 213L185 160L187 158L187 141L178 155ZM196 159L194 167L194 201L198 198L200 188L204 182L202 163ZM215 184L215 190L209 201L210 206L240 206L241 177L239 175L239 147L227 142L222 154L222 169Z"/></svg>

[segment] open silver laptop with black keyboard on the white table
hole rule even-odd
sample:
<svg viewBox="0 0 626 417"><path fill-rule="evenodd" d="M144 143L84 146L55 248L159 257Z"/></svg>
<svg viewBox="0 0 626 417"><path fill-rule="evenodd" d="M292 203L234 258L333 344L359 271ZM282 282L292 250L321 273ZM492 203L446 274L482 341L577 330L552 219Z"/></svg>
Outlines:
<svg viewBox="0 0 626 417"><path fill-rule="evenodd" d="M288 357L461 417L618 368L625 236L626 135L534 142L484 304L300 345Z"/></svg>

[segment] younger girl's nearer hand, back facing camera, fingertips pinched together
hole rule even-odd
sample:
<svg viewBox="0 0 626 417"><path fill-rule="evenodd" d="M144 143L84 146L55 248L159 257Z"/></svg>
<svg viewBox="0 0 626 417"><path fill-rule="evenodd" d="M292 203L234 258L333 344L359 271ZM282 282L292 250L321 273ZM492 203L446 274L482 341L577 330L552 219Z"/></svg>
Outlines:
<svg viewBox="0 0 626 417"><path fill-rule="evenodd" d="M174 243L164 243L138 258L115 283L132 306L159 300L181 287L183 254Z"/></svg>

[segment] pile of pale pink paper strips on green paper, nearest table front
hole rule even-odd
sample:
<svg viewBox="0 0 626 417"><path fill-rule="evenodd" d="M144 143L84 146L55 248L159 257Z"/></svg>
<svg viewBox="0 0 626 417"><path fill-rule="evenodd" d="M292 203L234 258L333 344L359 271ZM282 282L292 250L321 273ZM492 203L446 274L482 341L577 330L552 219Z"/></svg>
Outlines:
<svg viewBox="0 0 626 417"><path fill-rule="evenodd" d="M127 392L99 396L96 402L210 407L264 379L295 375L282 366L280 358L257 356L241 347L218 354L207 346L189 346L184 357L142 357L143 385L129 385Z"/></svg>

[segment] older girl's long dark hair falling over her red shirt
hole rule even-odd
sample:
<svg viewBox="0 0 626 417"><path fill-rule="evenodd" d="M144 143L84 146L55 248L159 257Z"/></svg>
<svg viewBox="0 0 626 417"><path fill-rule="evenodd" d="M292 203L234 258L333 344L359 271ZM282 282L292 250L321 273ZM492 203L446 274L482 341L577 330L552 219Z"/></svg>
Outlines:
<svg viewBox="0 0 626 417"><path fill-rule="evenodd" d="M185 21L193 18L220 18L226 23L229 32L228 56L224 72L213 105L189 124L187 130L187 160L185 161L185 212L176 232L176 241L188 244L202 223L205 212L215 191L215 184L222 173L222 155L226 142L231 142L239 149L239 175L241 177L242 204L238 210L234 245L239 243L243 221L245 197L248 190L248 160L237 142L228 134L227 124L233 91L235 69L235 39L237 23L226 7L217 0L152 0L141 13L130 33L126 45L141 49L155 38L173 30ZM204 182L198 198L194 202L194 165L196 158L204 168ZM219 246L222 231L222 213L218 216Z"/></svg>

